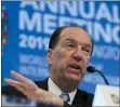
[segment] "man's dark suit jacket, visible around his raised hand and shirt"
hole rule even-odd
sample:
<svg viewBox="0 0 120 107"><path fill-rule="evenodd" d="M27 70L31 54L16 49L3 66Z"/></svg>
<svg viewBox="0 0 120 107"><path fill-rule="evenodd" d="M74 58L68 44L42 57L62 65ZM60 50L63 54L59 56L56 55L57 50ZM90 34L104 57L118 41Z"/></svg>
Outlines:
<svg viewBox="0 0 120 107"><path fill-rule="evenodd" d="M35 82L39 88L48 91L48 79L44 81L37 81ZM15 95L18 97L25 97L26 96L17 91L15 88L12 86L2 86L2 94L5 95ZM77 94L75 96L75 99L72 102L72 105L68 105L65 103L64 107L91 107L93 102L93 94L86 93L85 91L77 90ZM38 104L37 107L43 107Z"/></svg>

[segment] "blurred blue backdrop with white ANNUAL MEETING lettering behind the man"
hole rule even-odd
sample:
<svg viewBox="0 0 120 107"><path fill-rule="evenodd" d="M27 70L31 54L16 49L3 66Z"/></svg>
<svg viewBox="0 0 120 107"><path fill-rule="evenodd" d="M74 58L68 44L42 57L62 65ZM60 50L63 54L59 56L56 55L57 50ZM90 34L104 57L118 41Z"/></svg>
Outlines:
<svg viewBox="0 0 120 107"><path fill-rule="evenodd" d="M102 70L110 85L120 81L120 2L119 1L2 1L1 49L2 85L12 78L11 70L31 79L49 76L46 51L52 32L63 25L78 24L95 42L89 65ZM97 73L86 73L79 89L95 92L105 84ZM2 95L3 105L36 105L14 96Z"/></svg>

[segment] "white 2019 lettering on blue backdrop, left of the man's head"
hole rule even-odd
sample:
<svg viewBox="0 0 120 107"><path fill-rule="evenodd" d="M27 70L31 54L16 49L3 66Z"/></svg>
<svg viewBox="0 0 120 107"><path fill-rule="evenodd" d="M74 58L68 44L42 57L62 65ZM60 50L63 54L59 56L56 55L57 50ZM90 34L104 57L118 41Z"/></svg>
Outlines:
<svg viewBox="0 0 120 107"><path fill-rule="evenodd" d="M50 38L42 38L41 36L26 36L24 34L19 35L19 48L24 49L38 49L38 50L48 50Z"/></svg>

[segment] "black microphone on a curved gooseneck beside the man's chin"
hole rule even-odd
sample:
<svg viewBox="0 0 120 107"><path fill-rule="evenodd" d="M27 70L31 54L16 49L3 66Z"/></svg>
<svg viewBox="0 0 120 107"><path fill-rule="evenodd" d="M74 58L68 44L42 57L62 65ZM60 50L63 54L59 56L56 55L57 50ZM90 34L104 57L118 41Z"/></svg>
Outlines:
<svg viewBox="0 0 120 107"><path fill-rule="evenodd" d="M105 76L104 76L104 73L103 73L102 71L99 71L99 70L96 69L96 68L94 68L93 66L86 67L86 70L88 70L89 72L95 72L95 71L97 71L97 72L104 78L105 83L106 83L107 85L109 85L107 79L105 78Z"/></svg>

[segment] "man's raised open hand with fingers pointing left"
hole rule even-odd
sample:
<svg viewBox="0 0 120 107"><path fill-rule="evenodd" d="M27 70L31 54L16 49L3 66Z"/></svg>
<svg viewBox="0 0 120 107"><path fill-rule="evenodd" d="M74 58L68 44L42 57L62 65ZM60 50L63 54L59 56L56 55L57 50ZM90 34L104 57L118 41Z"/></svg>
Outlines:
<svg viewBox="0 0 120 107"><path fill-rule="evenodd" d="M22 75L11 71L11 75L17 80L12 79L4 79L4 81L16 88L18 91L21 91L24 95L27 96L29 99L34 99L39 102L42 105L49 105L49 106L64 106L64 101L61 97L57 97L53 94L51 94L48 91L44 91L40 88L38 88L31 80L23 77Z"/></svg>

